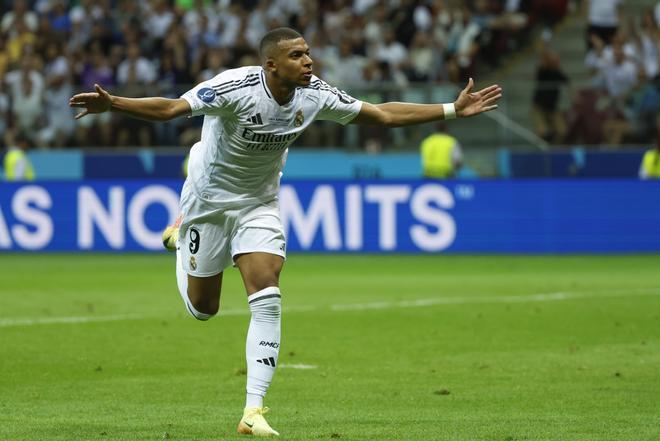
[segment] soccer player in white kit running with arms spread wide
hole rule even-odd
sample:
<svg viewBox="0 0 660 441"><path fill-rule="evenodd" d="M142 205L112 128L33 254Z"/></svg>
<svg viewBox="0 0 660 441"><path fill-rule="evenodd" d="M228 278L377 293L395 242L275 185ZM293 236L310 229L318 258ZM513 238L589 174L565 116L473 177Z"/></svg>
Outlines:
<svg viewBox="0 0 660 441"><path fill-rule="evenodd" d="M285 237L277 194L287 148L315 119L398 127L467 117L497 108L502 90L472 92L470 79L455 103L372 105L314 76L309 46L293 29L268 32L259 51L261 66L224 71L179 99L124 98L95 85L95 92L75 95L69 104L84 109L76 118L107 111L154 121L204 115L181 191L178 287L188 312L208 320L219 309L223 271L238 267L252 314L238 432L277 436L263 417L263 397L281 343Z"/></svg>

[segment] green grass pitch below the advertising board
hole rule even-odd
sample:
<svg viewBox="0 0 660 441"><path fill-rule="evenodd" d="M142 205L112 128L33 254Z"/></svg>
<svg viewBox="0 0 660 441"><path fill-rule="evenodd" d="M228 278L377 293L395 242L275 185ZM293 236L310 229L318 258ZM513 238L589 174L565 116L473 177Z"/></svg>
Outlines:
<svg viewBox="0 0 660 441"><path fill-rule="evenodd" d="M201 323L173 266L0 256L0 440L245 439L239 274ZM658 440L659 282L654 255L292 255L268 420L285 440Z"/></svg>

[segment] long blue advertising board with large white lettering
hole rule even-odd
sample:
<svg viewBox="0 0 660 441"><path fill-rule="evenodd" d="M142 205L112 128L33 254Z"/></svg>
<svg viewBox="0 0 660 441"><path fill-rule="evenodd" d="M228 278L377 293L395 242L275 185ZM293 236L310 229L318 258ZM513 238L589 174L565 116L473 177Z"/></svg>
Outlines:
<svg viewBox="0 0 660 441"><path fill-rule="evenodd" d="M0 251L160 251L180 180L0 186ZM289 251L660 251L660 182L288 181Z"/></svg>

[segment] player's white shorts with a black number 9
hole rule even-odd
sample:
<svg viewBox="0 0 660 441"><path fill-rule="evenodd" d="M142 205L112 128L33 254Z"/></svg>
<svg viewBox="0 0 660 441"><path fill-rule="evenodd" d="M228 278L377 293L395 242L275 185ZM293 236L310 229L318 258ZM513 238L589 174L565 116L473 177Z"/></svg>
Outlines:
<svg viewBox="0 0 660 441"><path fill-rule="evenodd" d="M278 201L223 210L208 204L184 186L179 249L183 269L209 277L233 265L239 254L263 252L286 258Z"/></svg>

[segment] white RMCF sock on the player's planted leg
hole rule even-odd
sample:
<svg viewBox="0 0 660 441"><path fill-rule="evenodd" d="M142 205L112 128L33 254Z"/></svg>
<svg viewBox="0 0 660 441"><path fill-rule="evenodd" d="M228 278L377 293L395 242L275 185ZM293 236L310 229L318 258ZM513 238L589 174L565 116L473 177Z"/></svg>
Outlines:
<svg viewBox="0 0 660 441"><path fill-rule="evenodd" d="M275 286L262 289L248 297L248 304L252 319L245 342L248 371L245 407L262 407L280 352L280 289Z"/></svg>

